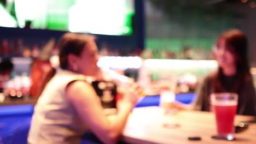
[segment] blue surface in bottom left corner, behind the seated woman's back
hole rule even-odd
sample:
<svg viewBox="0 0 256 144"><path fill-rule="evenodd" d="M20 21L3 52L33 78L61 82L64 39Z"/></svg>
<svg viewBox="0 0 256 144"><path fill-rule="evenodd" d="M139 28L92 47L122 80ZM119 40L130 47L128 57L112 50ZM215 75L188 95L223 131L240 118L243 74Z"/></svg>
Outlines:
<svg viewBox="0 0 256 144"><path fill-rule="evenodd" d="M32 115L33 105L0 106L2 143L26 143Z"/></svg>

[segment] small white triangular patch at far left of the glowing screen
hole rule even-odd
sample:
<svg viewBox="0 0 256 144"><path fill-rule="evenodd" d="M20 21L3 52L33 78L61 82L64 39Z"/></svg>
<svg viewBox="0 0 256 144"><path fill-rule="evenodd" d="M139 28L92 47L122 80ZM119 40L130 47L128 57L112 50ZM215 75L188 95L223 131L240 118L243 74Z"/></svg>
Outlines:
<svg viewBox="0 0 256 144"><path fill-rule="evenodd" d="M3 5L0 3L0 26L1 27L17 27L17 22L15 19L4 9Z"/></svg>

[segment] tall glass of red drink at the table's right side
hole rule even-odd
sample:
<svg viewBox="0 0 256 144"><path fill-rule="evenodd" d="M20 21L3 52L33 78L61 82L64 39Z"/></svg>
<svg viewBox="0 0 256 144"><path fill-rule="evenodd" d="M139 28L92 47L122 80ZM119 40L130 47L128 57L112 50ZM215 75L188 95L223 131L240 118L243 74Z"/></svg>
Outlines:
<svg viewBox="0 0 256 144"><path fill-rule="evenodd" d="M234 140L234 119L237 109L236 93L213 93L211 105L215 113L218 135L214 138Z"/></svg>

